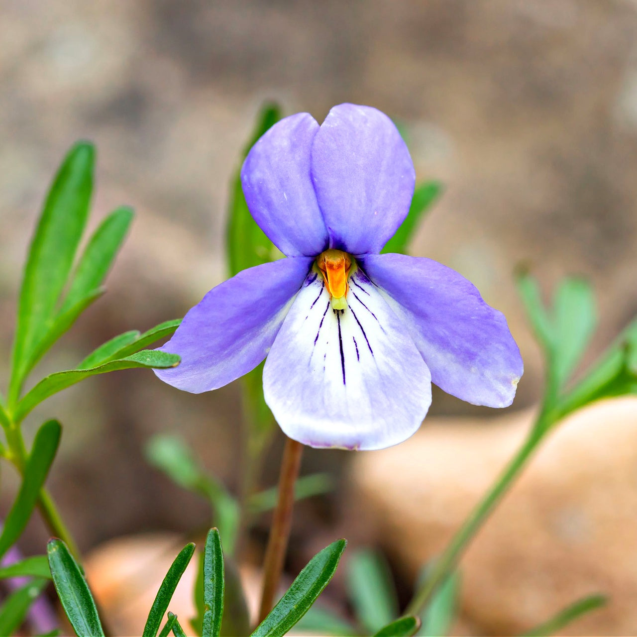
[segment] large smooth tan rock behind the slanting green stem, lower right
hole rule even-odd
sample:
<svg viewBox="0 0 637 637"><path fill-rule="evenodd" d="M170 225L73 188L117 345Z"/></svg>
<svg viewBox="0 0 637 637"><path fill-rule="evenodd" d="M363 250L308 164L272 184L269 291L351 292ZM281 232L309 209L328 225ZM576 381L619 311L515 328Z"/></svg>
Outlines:
<svg viewBox="0 0 637 637"><path fill-rule="evenodd" d="M445 547L532 420L427 419L403 445L357 456L359 506L412 576ZM516 634L603 593L605 608L561 634L635 634L636 528L637 397L622 397L571 415L545 440L462 560L461 612L485 634Z"/></svg>

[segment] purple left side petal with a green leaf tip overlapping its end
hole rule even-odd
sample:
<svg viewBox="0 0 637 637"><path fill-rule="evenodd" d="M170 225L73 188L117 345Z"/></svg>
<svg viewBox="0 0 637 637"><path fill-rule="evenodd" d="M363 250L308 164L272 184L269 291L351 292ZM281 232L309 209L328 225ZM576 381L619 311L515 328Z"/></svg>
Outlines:
<svg viewBox="0 0 637 637"><path fill-rule="evenodd" d="M298 257L266 263L210 290L161 348L180 355L182 362L155 374L199 394L254 369L268 354L311 262Z"/></svg>

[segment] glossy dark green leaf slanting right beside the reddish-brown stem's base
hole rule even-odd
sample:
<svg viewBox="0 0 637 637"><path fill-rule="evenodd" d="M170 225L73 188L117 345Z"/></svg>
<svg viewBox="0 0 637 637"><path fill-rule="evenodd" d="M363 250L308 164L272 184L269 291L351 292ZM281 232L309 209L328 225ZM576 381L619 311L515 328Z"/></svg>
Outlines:
<svg viewBox="0 0 637 637"><path fill-rule="evenodd" d="M315 555L299 573L252 637L282 637L316 601L336 573L347 541L337 540Z"/></svg>

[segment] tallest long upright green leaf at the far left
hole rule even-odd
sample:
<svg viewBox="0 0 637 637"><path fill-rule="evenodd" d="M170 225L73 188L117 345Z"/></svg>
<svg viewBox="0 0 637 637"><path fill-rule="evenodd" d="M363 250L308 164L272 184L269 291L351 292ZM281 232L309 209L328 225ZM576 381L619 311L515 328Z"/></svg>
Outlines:
<svg viewBox="0 0 637 637"><path fill-rule="evenodd" d="M34 348L57 313L89 215L94 163L93 146L76 144L66 155L48 192L20 289L10 404L17 399Z"/></svg>

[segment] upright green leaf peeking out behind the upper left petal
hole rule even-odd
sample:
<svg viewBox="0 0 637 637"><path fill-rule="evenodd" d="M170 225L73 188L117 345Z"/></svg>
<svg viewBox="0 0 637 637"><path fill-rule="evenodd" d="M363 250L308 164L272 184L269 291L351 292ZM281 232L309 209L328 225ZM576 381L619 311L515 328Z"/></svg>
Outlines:
<svg viewBox="0 0 637 637"><path fill-rule="evenodd" d="M280 108L276 104L264 104L257 118L250 142L243 152L242 159L257 140L281 118ZM273 261L276 254L273 243L250 215L241 187L241 169L234 173L231 185L231 197L228 211L227 257L230 275L234 276L245 268L252 268Z"/></svg>

